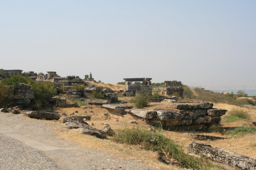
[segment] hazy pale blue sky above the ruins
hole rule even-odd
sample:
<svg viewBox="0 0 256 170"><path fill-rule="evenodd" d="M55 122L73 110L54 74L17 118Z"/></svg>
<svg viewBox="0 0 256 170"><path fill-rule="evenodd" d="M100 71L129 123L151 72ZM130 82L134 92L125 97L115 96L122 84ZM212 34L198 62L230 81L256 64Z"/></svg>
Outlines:
<svg viewBox="0 0 256 170"><path fill-rule="evenodd" d="M256 1L0 0L0 68L256 89Z"/></svg>

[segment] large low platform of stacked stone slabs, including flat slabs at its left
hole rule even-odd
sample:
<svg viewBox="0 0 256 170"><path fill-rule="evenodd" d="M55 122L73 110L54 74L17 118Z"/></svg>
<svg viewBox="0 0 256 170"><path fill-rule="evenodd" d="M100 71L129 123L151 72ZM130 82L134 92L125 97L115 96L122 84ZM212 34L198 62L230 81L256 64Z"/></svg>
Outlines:
<svg viewBox="0 0 256 170"><path fill-rule="evenodd" d="M218 125L227 110L214 109L212 103L170 103L169 110L132 109L129 105L102 105L112 118L122 118L130 114L135 119L144 120L149 125L159 125L167 130L204 131Z"/></svg>

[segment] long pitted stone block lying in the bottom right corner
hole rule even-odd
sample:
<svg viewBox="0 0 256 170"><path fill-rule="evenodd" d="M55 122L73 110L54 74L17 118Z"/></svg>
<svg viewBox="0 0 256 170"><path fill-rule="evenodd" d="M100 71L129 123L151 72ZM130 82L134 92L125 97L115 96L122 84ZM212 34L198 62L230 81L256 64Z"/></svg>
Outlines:
<svg viewBox="0 0 256 170"><path fill-rule="evenodd" d="M232 167L248 170L256 169L256 159L221 148L212 148L209 144L192 142L189 144L188 152L203 155L212 161L228 164Z"/></svg>

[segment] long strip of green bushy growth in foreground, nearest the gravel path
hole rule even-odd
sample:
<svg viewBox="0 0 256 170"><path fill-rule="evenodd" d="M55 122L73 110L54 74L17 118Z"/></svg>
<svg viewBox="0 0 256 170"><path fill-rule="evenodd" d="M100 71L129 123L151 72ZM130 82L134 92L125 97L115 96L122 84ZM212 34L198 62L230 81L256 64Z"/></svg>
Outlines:
<svg viewBox="0 0 256 170"><path fill-rule="evenodd" d="M160 156L176 159L182 167L210 169L214 166L208 162L204 163L199 158L185 154L180 145L169 138L147 130L135 128L119 130L113 136L112 140L119 143L140 145L141 149L156 151Z"/></svg>

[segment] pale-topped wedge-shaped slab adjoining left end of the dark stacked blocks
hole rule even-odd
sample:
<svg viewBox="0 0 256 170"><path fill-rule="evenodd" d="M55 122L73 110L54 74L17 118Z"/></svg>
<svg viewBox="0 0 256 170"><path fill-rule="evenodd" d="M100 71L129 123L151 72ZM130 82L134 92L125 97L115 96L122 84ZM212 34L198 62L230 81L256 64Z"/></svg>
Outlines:
<svg viewBox="0 0 256 170"><path fill-rule="evenodd" d="M145 119L153 119L157 116L157 111L155 110L146 110L146 109L125 109L125 112L142 117Z"/></svg>

